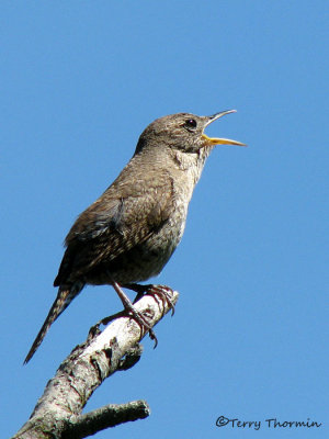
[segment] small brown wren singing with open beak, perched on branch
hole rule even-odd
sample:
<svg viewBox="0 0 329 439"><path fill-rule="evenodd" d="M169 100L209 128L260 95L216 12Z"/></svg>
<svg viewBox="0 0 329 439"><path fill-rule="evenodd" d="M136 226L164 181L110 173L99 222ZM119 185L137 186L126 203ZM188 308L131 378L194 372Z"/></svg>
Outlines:
<svg viewBox="0 0 329 439"><path fill-rule="evenodd" d="M204 133L211 123L235 112L170 114L144 130L132 159L69 230L54 281L57 296L24 363L87 284L112 285L124 308L151 333L123 288L140 294L154 286L139 282L159 274L180 243L193 190L214 147L246 146ZM155 292L166 295L166 291L167 286L155 285Z"/></svg>

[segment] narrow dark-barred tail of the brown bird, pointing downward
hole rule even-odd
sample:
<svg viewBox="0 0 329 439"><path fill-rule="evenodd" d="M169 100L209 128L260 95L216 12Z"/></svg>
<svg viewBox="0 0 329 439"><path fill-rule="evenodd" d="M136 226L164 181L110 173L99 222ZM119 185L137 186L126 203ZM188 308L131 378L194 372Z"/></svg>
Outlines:
<svg viewBox="0 0 329 439"><path fill-rule="evenodd" d="M80 293L82 288L83 288L83 284L78 283L78 282L70 286L68 286L68 285L59 286L57 297L56 297L55 302L53 303L53 306L52 306L41 330L38 331L35 340L33 341L33 345L24 360L24 364L26 364L31 360L31 358L34 356L36 349L42 344L42 341L45 338L45 335L47 334L52 324L68 307L68 305L72 302L72 300Z"/></svg>

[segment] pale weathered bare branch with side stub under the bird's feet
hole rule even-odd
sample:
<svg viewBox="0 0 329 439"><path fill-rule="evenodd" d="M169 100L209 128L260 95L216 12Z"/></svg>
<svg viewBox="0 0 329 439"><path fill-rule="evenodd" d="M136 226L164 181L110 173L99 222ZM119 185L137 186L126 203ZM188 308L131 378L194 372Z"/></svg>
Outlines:
<svg viewBox="0 0 329 439"><path fill-rule="evenodd" d="M179 294L168 293L173 304ZM135 303L154 327L170 311L167 301L145 295ZM140 327L129 317L118 317L103 331L91 328L88 339L77 346L48 382L31 418L12 439L86 438L107 427L149 415L145 401L106 405L81 415L94 390L116 371L136 364L141 356ZM144 337L145 335L143 335Z"/></svg>

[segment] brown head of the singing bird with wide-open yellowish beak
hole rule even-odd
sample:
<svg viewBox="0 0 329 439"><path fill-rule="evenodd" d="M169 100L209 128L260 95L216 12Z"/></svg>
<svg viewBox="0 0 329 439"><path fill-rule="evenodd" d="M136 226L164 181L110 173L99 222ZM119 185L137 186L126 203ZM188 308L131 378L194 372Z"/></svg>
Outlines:
<svg viewBox="0 0 329 439"><path fill-rule="evenodd" d="M141 133L135 154L145 147L161 148L163 146L179 149L183 153L198 153L202 148L211 149L215 145L239 145L241 142L229 138L208 137L204 130L212 122L236 110L222 111L212 116L196 116L191 113L170 114L157 119Z"/></svg>

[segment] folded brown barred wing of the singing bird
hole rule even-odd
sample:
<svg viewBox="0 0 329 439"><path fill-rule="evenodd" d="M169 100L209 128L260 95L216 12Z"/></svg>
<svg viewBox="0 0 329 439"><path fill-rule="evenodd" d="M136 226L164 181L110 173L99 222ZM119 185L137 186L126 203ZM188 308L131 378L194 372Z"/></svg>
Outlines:
<svg viewBox="0 0 329 439"><path fill-rule="evenodd" d="M166 176L167 177L167 176ZM141 187L111 185L70 229L54 285L83 273L147 240L173 211L173 183L167 177L147 179Z"/></svg>

